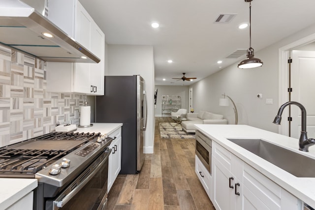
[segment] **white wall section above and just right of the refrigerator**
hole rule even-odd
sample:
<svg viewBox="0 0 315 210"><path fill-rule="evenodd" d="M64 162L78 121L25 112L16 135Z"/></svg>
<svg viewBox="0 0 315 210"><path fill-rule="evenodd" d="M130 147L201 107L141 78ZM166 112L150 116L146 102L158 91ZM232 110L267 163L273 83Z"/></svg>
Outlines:
<svg viewBox="0 0 315 210"><path fill-rule="evenodd" d="M153 153L155 126L153 47L107 44L106 48L106 76L141 75L145 80L148 96L148 124L145 132L144 152Z"/></svg>

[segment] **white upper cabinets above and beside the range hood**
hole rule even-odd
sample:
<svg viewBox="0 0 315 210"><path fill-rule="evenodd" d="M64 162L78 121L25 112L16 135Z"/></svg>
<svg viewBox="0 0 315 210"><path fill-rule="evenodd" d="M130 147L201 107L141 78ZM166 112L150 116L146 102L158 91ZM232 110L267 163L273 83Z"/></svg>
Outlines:
<svg viewBox="0 0 315 210"><path fill-rule="evenodd" d="M105 35L102 30L78 0L49 0L48 19L90 50L100 62L47 62L47 90L103 95Z"/></svg>

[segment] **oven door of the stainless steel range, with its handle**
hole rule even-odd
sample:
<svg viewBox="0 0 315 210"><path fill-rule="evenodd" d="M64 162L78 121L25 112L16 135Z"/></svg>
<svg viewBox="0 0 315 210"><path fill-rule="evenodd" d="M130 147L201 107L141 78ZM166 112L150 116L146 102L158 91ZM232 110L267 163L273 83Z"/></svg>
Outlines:
<svg viewBox="0 0 315 210"><path fill-rule="evenodd" d="M54 199L46 201L52 210L106 210L108 156L107 149Z"/></svg>

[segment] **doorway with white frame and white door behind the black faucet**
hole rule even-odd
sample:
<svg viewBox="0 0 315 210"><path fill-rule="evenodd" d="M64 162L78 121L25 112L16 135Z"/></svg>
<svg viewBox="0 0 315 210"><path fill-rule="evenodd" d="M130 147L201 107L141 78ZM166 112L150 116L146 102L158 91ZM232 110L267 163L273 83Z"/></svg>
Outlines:
<svg viewBox="0 0 315 210"><path fill-rule="evenodd" d="M310 63L312 63L312 59L308 59L306 57L309 57L310 55L298 55L298 51L296 51L296 49L303 49L302 46L306 46L307 44L310 44L312 42L314 42L315 40L315 34L312 34L310 36L307 36L303 39L300 39L296 42L293 42L289 45L286 45L282 48L279 49L279 106L281 106L282 104L284 104L285 102L287 102L289 100L289 94L288 94L288 84L289 84L289 71L288 71L288 62L287 60L290 57L290 53L293 59L293 62L291 64L291 71L292 71L292 75L291 75L291 82L292 82L292 90L294 91L294 89L296 90L295 92L291 92L291 101L298 101L301 102L303 105L309 104L309 101L306 101L306 99L310 100L310 97L306 97L306 95L309 94L313 94L313 93L309 93L309 89L306 89L304 87L304 81L302 83L301 86L301 80L305 80L305 77L308 79L308 84L306 84L306 86L310 85L310 79L313 79L314 77L312 76L306 76L305 74L307 74L307 72L309 70L307 70L308 68L306 68L307 65L309 65ZM295 51L295 52L293 52ZM315 50L314 50L315 51ZM295 55L294 55L295 53ZM295 58L293 58L293 56ZM300 57L300 58L299 58ZM311 56L312 57L312 56ZM296 61L294 64L294 60L299 60ZM314 61L315 62L315 61ZM314 66L314 64L311 64ZM300 70L300 67L303 68L303 70ZM314 67L313 67L314 69ZM310 72L309 72L310 73ZM312 78L311 78L312 77ZM303 79L304 78L304 79ZM293 89L294 86L294 89ZM310 87L310 86L308 86ZM303 97L304 99L302 99L301 97ZM312 97L313 98L313 97ZM312 101L314 101L314 99L311 99ZM310 101L311 101L310 100ZM312 102L310 102L312 103ZM309 110L308 110L309 109ZM312 108L308 108L306 107L306 110L308 111L307 114L310 116L314 116L315 117L315 111L312 110ZM284 114L283 114L283 119L286 119L286 117L288 117L288 110L286 109L284 110ZM298 107L296 106L291 106L291 117L293 118L292 122L291 122L291 137L293 138L299 138L300 135L300 130L301 130L301 113L298 109ZM294 120L295 118L295 120ZM315 126L312 125L313 119L308 117L308 124L310 125L308 132L310 136L314 136L315 135ZM283 120L283 123L281 126L279 126L279 133L283 134L283 135L288 135L289 134L289 126L288 126L288 122ZM315 124L315 123L314 123Z"/></svg>

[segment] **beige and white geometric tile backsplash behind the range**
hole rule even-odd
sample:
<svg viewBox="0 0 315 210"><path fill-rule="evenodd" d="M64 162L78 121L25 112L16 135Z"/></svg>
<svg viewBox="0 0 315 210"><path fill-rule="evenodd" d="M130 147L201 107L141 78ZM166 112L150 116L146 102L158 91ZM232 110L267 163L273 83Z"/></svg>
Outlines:
<svg viewBox="0 0 315 210"><path fill-rule="evenodd" d="M0 45L0 147L49 133L58 121L79 124L87 96L47 92L46 70L45 61Z"/></svg>

